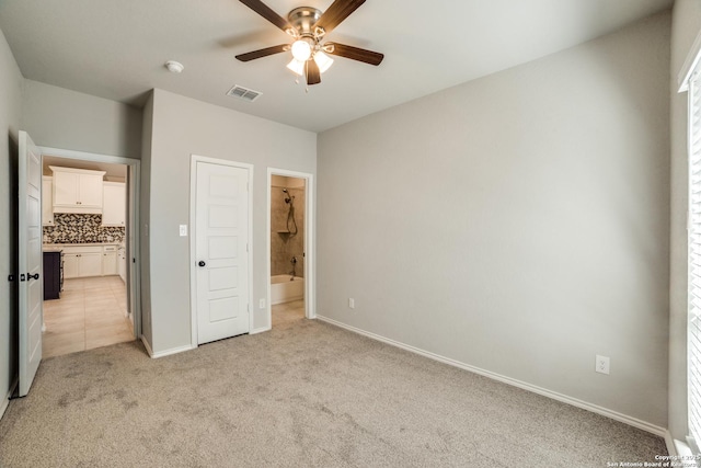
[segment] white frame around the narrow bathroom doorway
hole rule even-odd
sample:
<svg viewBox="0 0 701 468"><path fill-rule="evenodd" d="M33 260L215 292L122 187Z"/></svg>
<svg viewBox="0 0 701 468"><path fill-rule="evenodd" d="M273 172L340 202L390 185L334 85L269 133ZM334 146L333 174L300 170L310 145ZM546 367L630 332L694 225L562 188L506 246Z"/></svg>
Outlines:
<svg viewBox="0 0 701 468"><path fill-rule="evenodd" d="M273 329L273 306L271 305L271 203L273 201L273 175L304 180L304 317L317 318L315 299L315 248L314 248L314 174L310 172L290 171L287 169L267 168L267 198L266 198L266 239L267 250L265 256L267 271L266 300L267 330Z"/></svg>

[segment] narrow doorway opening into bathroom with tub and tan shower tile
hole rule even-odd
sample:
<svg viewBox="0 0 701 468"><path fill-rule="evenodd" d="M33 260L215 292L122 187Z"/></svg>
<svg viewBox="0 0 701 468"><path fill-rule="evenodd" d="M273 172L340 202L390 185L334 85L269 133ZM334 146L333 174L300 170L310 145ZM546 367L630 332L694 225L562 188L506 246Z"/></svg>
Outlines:
<svg viewBox="0 0 701 468"><path fill-rule="evenodd" d="M271 327L312 318L311 174L268 170Z"/></svg>

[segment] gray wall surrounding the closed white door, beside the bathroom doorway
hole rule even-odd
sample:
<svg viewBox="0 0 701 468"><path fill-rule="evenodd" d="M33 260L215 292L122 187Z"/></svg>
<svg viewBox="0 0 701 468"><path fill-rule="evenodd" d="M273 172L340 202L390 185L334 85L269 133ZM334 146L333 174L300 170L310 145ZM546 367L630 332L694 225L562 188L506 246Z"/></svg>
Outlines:
<svg viewBox="0 0 701 468"><path fill-rule="evenodd" d="M269 327L258 299L267 294L267 167L317 172L317 135L235 111L154 90L150 161L150 317L152 350L191 343L189 224L191 156L254 164L253 327Z"/></svg>

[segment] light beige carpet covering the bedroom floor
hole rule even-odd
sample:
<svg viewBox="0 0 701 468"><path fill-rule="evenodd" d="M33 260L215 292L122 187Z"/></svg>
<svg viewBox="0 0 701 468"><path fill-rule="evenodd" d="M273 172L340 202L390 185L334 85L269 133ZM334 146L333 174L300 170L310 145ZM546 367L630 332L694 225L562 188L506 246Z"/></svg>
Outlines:
<svg viewBox="0 0 701 468"><path fill-rule="evenodd" d="M2 467L607 467L660 437L336 327L45 359Z"/></svg>

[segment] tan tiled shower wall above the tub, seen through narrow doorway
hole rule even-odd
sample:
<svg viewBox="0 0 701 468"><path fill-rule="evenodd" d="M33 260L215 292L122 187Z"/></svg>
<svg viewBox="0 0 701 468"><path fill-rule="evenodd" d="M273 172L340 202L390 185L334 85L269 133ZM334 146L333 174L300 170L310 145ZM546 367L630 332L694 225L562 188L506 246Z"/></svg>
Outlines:
<svg viewBox="0 0 701 468"><path fill-rule="evenodd" d="M285 203L286 195L283 189L273 186L271 196L271 274L289 274L292 271L290 259L297 256L296 275L304 277L304 189L288 189L289 194L295 197L297 235L287 232L289 204ZM295 231L291 220L289 230Z"/></svg>

